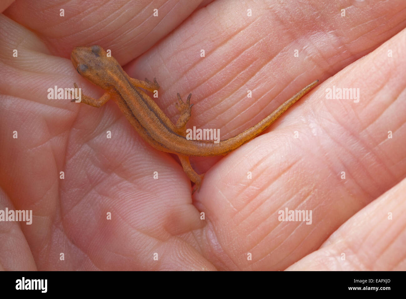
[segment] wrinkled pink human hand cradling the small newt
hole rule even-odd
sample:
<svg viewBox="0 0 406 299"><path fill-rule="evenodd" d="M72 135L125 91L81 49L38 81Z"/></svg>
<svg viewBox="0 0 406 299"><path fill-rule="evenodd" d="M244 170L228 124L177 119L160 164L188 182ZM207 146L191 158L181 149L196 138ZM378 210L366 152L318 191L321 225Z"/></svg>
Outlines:
<svg viewBox="0 0 406 299"><path fill-rule="evenodd" d="M125 2L92 10L67 2L62 19L48 2L16 1L0 16L0 53L18 50L0 56L0 209L35 215L30 226L0 223L2 269L405 270L405 2L256 1L249 18L233 1L173 10L158 1L159 19L149 1L137 3L132 11ZM177 17L160 23L168 11ZM192 93L188 126L220 128L225 138L309 78L320 82L263 135L224 158L191 160L207 171L192 201L181 166L146 144L114 103L47 98L72 82L102 95L69 60L73 46L93 44L115 45L132 78L159 78L157 103L174 122L176 93ZM359 103L327 100L333 85L360 88ZM285 207L312 210L312 224L279 222ZM55 262L60 252L65 261Z"/></svg>

